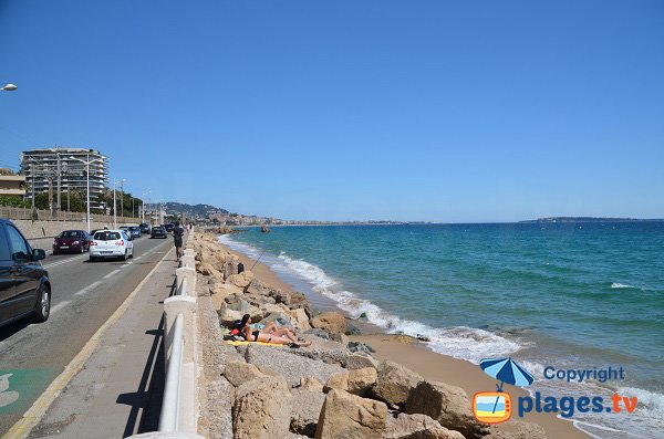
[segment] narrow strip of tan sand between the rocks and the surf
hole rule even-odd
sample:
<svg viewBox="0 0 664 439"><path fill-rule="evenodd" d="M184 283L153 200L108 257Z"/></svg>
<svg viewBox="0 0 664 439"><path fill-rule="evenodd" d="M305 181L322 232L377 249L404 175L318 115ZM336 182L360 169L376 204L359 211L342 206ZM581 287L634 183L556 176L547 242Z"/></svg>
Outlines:
<svg viewBox="0 0 664 439"><path fill-rule="evenodd" d="M247 269L252 268L252 273L266 285L283 291L299 291L295 285L290 284L279 276L270 266L262 262L256 262L247 254L234 250L222 242L219 242L226 251L236 255ZM312 294L311 291L300 291L307 295L308 300ZM312 297L310 302L317 307L317 302L320 303L320 297ZM349 314L334 306L333 309L322 311L335 311L340 314L350 317ZM418 342L412 337L400 337L397 335L386 334L384 330L370 323L362 323L352 320L353 324L361 328L362 335L350 336L350 341L366 343L376 352L374 356L381 360L392 360L398 363L413 372L419 374L427 380L443 381L449 385L463 388L469 398L477 391L494 391L496 380L484 374L477 365L465 359L458 359L443 354L435 353L426 346L426 343ZM405 343L404 343L405 342ZM506 390L513 397L513 400L520 396L528 396L523 389L506 385ZM530 412L523 418L518 418L517 414L512 416L512 420L500 425L502 431L512 431L510 428L516 422L513 420L532 422L540 426L549 439L588 439L590 435L574 427L572 421L558 418L552 414Z"/></svg>

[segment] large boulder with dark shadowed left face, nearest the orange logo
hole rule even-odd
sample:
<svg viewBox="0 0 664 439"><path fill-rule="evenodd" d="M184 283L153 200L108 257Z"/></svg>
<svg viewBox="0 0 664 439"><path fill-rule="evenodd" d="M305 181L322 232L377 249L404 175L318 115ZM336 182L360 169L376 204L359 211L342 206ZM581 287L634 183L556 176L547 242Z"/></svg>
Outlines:
<svg viewBox="0 0 664 439"><path fill-rule="evenodd" d="M445 383L419 383L411 390L405 411L430 416L443 427L457 430L468 439L480 438L489 432L486 425L474 418L466 391Z"/></svg>

